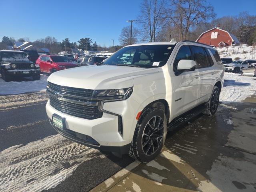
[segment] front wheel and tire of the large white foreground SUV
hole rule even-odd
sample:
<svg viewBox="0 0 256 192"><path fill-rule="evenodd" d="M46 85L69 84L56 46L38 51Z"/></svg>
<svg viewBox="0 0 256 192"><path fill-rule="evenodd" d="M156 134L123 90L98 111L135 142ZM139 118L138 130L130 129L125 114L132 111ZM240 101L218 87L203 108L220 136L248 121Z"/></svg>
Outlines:
<svg viewBox="0 0 256 192"><path fill-rule="evenodd" d="M167 120L164 111L147 108L137 122L129 155L135 160L150 162L160 154L166 133Z"/></svg>

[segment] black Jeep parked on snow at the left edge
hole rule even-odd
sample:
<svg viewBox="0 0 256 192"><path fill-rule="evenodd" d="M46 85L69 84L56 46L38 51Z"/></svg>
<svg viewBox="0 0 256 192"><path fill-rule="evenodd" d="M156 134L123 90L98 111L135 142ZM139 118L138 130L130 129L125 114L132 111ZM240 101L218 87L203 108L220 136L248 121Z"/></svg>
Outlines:
<svg viewBox="0 0 256 192"><path fill-rule="evenodd" d="M32 77L40 80L40 68L28 60L23 51L0 51L0 70L6 82L13 77Z"/></svg>

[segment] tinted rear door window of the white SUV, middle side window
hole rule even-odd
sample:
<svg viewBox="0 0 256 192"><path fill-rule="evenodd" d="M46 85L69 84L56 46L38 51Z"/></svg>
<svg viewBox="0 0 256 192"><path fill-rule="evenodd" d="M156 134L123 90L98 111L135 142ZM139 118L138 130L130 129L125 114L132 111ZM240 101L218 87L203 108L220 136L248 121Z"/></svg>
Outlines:
<svg viewBox="0 0 256 192"><path fill-rule="evenodd" d="M204 52L204 48L198 46L192 47L194 60L196 61L196 68L208 67L207 56L206 53Z"/></svg>

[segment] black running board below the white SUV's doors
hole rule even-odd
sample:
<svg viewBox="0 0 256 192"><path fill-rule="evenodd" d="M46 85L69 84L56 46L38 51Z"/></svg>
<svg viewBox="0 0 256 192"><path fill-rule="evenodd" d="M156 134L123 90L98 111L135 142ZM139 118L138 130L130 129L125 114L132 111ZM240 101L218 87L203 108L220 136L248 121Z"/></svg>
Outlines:
<svg viewBox="0 0 256 192"><path fill-rule="evenodd" d="M203 103L203 104L200 104L199 106L196 106L195 108L189 110L188 112L185 112L184 114L174 118L168 124L168 131L178 128L182 124L188 122L190 119L194 118L195 116L198 116L205 109L206 109L206 103Z"/></svg>

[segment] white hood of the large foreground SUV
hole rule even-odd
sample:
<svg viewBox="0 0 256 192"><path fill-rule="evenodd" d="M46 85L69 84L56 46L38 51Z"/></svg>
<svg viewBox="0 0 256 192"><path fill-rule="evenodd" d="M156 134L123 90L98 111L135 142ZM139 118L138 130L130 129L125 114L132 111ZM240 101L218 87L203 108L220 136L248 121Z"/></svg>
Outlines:
<svg viewBox="0 0 256 192"><path fill-rule="evenodd" d="M84 89L120 89L133 86L134 76L159 72L159 68L89 65L54 72L49 82Z"/></svg>

